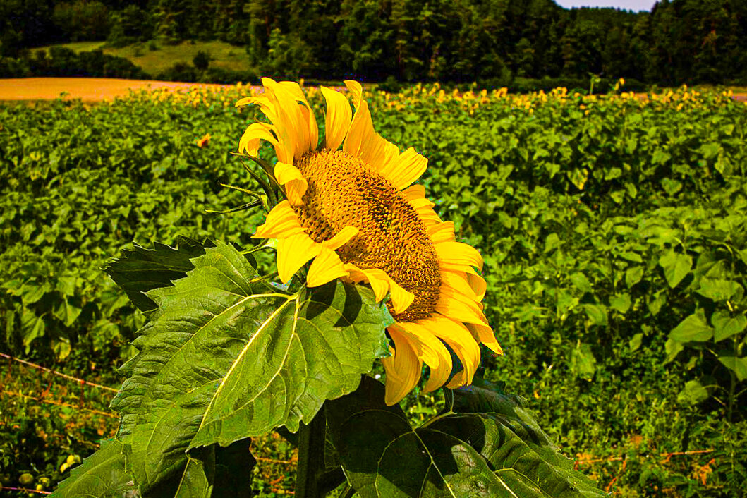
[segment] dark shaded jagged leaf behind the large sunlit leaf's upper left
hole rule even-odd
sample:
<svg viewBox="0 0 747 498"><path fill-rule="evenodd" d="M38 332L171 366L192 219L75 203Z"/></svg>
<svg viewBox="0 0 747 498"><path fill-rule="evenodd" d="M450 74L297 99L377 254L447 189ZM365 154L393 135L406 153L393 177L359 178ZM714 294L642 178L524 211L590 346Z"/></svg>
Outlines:
<svg viewBox="0 0 747 498"><path fill-rule="evenodd" d="M176 247L156 242L153 249L133 244L133 249L125 249L124 255L109 261L104 271L122 287L140 311L156 308L155 302L146 292L158 287L168 287L177 278L184 278L192 270L190 261L205 254L205 246L212 247L211 241L199 243L187 237L177 237Z"/></svg>

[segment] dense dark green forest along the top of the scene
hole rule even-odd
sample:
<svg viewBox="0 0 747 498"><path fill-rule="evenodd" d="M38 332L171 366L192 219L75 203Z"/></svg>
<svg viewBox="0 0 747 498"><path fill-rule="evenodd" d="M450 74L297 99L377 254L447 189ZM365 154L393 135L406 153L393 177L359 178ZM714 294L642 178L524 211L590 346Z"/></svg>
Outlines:
<svg viewBox="0 0 747 498"><path fill-rule="evenodd" d="M224 40L291 77L747 84L745 0L663 0L651 13L553 0L3 0L0 30L3 57L78 40Z"/></svg>

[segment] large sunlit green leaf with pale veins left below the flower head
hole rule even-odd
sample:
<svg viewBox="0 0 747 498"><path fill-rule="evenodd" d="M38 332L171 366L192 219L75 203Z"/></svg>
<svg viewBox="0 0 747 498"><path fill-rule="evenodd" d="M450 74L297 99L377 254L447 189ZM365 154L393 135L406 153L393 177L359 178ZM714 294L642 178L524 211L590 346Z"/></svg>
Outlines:
<svg viewBox="0 0 747 498"><path fill-rule="evenodd" d="M223 243L192 260L158 303L128 361L112 408L144 493L194 470L187 450L226 446L311 420L326 399L356 389L386 354L385 305L371 290L331 282L296 294L268 290L247 258ZM198 472L199 474L199 472Z"/></svg>

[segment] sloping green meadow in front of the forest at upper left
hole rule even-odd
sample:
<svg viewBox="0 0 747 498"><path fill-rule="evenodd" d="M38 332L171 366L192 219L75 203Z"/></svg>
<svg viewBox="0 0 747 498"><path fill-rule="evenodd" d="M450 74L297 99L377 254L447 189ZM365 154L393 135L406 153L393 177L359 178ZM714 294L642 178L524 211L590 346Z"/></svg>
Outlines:
<svg viewBox="0 0 747 498"><path fill-rule="evenodd" d="M60 45L75 52L102 49L107 55L125 57L149 75L155 76L159 72L169 69L176 63L191 64L197 52L207 52L213 60L211 66L233 71L248 71L249 58L242 47L233 46L221 41L185 41L179 45L167 45L158 41L137 43L120 49L107 47L105 42L75 42ZM48 50L49 46L34 49L34 51ZM154 50L155 49L155 50Z"/></svg>

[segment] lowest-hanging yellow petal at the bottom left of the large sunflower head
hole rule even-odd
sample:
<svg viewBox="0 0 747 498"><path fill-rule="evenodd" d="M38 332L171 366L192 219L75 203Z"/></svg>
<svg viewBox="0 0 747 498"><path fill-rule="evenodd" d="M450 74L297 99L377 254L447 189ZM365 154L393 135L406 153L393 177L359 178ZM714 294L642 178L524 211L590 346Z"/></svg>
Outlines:
<svg viewBox="0 0 747 498"><path fill-rule="evenodd" d="M394 340L394 349L391 356L382 358L382 364L386 372L386 385L384 401L391 406L399 402L407 393L418 384L423 364L418 359L412 344L406 337L391 329L389 335Z"/></svg>

